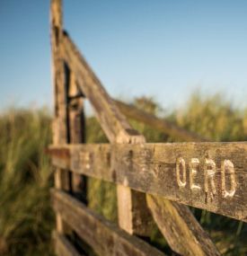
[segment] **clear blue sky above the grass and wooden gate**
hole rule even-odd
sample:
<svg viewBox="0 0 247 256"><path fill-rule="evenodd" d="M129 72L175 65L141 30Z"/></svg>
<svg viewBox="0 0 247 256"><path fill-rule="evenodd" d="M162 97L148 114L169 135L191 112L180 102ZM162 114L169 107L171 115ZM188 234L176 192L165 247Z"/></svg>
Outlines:
<svg viewBox="0 0 247 256"><path fill-rule="evenodd" d="M64 0L65 29L113 97L247 102L246 0ZM52 103L49 0L0 0L0 108Z"/></svg>

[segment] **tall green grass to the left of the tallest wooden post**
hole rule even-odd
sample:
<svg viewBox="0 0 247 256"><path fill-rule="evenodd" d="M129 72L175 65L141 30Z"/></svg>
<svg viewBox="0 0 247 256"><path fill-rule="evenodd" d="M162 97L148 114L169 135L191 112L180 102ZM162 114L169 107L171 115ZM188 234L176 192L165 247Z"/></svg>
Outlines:
<svg viewBox="0 0 247 256"><path fill-rule="evenodd" d="M47 110L0 116L0 255L51 255Z"/></svg>

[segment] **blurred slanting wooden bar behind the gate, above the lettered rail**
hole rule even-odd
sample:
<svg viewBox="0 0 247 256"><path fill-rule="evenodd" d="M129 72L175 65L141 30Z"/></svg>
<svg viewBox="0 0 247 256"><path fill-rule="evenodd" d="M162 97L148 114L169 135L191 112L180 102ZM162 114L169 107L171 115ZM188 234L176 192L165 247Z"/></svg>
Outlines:
<svg viewBox="0 0 247 256"><path fill-rule="evenodd" d="M183 141L209 141L205 137L200 137L184 128L180 128L172 122L165 119L158 119L154 115L146 113L143 110L138 110L136 107L128 105L124 102L114 101L119 107L119 110L128 118L136 119L145 123L146 125L162 131L165 134L174 138L179 138Z"/></svg>

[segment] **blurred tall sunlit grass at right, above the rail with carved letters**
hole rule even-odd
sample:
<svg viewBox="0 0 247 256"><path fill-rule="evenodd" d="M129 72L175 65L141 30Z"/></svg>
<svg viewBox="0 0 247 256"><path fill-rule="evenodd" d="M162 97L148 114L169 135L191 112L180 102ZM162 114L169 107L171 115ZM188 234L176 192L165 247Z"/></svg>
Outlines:
<svg viewBox="0 0 247 256"><path fill-rule="evenodd" d="M203 97L193 93L184 110L174 113L175 121L214 141L246 140L246 114L221 94Z"/></svg>

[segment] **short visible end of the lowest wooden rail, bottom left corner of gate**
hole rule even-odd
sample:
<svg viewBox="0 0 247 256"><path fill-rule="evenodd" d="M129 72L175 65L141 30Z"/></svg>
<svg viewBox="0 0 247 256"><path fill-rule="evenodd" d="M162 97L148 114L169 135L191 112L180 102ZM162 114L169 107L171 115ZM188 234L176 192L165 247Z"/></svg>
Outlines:
<svg viewBox="0 0 247 256"><path fill-rule="evenodd" d="M54 232L52 236L57 256L83 256L76 251L73 244L66 239L66 236L58 234L57 232Z"/></svg>

